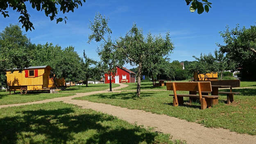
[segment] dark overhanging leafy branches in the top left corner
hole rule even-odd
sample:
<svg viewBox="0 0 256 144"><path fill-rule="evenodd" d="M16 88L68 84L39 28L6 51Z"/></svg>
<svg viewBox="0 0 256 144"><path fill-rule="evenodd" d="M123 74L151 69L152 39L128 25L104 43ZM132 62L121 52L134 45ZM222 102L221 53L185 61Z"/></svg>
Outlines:
<svg viewBox="0 0 256 144"><path fill-rule="evenodd" d="M83 0L85 2L85 0ZM34 29L33 23L29 20L29 13L27 7L31 6L33 9L36 8L37 11L44 11L45 16L49 16L50 20L56 19L56 22L66 23L68 19L66 16L64 18L57 18L59 11L63 14L70 11L74 12L75 8L82 6L82 0L1 0L0 1L0 13L6 18L9 17L7 8L16 10L20 13L19 22L22 23L22 27L25 27L26 31L28 29L31 31Z"/></svg>

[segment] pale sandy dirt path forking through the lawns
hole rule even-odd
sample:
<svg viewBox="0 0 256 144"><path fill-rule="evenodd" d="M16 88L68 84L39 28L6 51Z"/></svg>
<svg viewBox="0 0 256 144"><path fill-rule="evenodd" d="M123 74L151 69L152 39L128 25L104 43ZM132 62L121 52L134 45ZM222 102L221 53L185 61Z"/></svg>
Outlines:
<svg viewBox="0 0 256 144"><path fill-rule="evenodd" d="M120 88L125 88L128 85L120 83L119 87L113 88L114 92L121 92ZM126 91L126 90L122 90ZM159 90L161 91L161 90ZM256 136L247 134L237 134L223 128L206 128L200 124L188 122L186 120L170 117L167 115L157 115L143 110L131 110L121 108L104 103L94 103L84 100L75 100L75 97L83 97L91 94L99 94L108 92L108 90L77 93L70 97L58 97L54 99L46 99L43 101L34 101L29 103L18 103L11 105L2 105L0 108L9 106L23 106L36 103L46 103L50 101L63 101L64 103L75 104L82 108L91 108L92 110L101 111L131 124L135 122L138 125L155 127L156 131L169 133L174 139L186 140L188 144L255 144Z"/></svg>

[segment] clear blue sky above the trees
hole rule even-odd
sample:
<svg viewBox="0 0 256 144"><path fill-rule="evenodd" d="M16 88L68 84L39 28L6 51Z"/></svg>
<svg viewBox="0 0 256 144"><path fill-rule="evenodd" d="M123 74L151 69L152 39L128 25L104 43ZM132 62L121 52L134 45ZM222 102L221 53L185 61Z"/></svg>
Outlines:
<svg viewBox="0 0 256 144"><path fill-rule="evenodd" d="M35 30L25 32L32 43L53 43L61 47L72 45L82 56L86 54L100 60L97 56L97 46L100 43L88 44L89 21L96 13L109 17L109 27L112 29L112 38L124 36L133 23L143 29L144 34L151 32L154 35L165 36L170 32L175 49L170 54L171 61L193 61L192 56L213 52L216 43L223 43L219 32L224 31L226 25L233 28L237 23L249 27L256 22L256 1L242 0L208 0L212 2L209 13L198 15L190 13L185 0L86 0L82 7L75 9L64 16L68 17L67 24L50 21L44 12L36 11L28 6L30 19ZM9 10L9 18L0 16L0 31L9 24L18 23L19 14ZM59 12L59 16L63 16ZM131 68L130 65L125 65Z"/></svg>

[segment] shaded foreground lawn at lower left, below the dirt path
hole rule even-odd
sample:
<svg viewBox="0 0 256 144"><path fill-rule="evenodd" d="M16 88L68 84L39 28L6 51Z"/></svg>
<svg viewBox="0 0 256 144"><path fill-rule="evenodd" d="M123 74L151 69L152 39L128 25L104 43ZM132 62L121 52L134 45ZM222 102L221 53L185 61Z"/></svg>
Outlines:
<svg viewBox="0 0 256 144"><path fill-rule="evenodd" d="M177 142L177 141L176 141ZM173 144L170 135L91 109L50 102L0 109L1 144Z"/></svg>

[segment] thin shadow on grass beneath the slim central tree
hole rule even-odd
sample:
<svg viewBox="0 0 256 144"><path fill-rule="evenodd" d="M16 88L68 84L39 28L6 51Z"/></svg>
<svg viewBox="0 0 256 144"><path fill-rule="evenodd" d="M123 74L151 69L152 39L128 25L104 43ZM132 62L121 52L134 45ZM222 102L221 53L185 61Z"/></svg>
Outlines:
<svg viewBox="0 0 256 144"><path fill-rule="evenodd" d="M136 92L126 92L126 93L111 93L111 94L96 94L90 97L98 97L102 99L140 99L143 97L152 97L153 92L143 92L140 97L136 96Z"/></svg>

